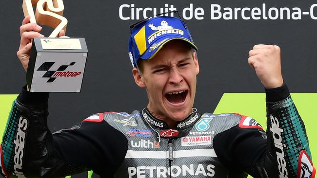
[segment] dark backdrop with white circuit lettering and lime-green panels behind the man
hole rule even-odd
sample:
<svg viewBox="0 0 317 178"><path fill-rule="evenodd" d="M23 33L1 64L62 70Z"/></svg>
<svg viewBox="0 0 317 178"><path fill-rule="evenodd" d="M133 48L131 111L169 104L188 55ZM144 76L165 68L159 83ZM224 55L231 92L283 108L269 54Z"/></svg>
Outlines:
<svg viewBox="0 0 317 178"><path fill-rule="evenodd" d="M13 99L26 84L16 55L21 5L21 0L0 1L0 135ZM239 112L266 128L264 87L248 65L248 52L255 44L278 45L283 78L306 125L316 164L317 0L64 0L64 7L66 36L85 36L89 56L80 93L50 94L52 132L93 113L131 113L145 107L146 91L132 76L129 25L178 10L198 47L200 73L194 107L201 113ZM42 34L52 30L43 26ZM86 178L87 173L74 177Z"/></svg>

